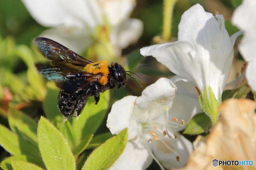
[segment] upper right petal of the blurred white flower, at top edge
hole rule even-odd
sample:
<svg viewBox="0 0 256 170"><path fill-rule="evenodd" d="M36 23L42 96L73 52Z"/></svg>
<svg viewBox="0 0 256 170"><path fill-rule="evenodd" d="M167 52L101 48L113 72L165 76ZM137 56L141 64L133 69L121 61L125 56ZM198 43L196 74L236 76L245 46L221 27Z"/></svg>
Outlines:
<svg viewBox="0 0 256 170"><path fill-rule="evenodd" d="M110 24L114 26L128 18L136 5L134 0L103 0L102 3Z"/></svg>

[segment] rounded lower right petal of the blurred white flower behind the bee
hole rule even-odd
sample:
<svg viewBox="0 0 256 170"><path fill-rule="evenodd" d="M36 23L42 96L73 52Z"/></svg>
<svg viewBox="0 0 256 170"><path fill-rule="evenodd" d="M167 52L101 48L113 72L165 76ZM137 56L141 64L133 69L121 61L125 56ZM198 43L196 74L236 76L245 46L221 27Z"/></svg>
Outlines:
<svg viewBox="0 0 256 170"><path fill-rule="evenodd" d="M126 48L138 41L143 31L143 22L139 19L126 19L119 26L113 28L110 40L118 48Z"/></svg>

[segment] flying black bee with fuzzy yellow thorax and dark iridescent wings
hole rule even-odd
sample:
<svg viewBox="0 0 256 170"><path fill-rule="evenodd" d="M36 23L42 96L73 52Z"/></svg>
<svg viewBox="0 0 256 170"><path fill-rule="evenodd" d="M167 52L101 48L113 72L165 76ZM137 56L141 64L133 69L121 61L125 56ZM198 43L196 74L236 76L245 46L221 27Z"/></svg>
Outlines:
<svg viewBox="0 0 256 170"><path fill-rule="evenodd" d="M91 62L48 38L36 37L34 43L42 55L50 61L50 63L36 63L36 68L43 77L55 82L61 89L58 107L67 118L75 110L74 117L78 117L92 95L97 104L100 93L116 85L118 89L125 86L126 75L131 76L126 73L130 71L125 71L116 62L112 62L110 66L107 61ZM138 81L137 83L141 86Z"/></svg>

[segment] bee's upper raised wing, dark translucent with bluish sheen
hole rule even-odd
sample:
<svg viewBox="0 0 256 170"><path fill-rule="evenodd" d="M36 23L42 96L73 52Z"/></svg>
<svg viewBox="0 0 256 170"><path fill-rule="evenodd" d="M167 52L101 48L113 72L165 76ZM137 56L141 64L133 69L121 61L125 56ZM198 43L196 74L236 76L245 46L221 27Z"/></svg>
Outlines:
<svg viewBox="0 0 256 170"><path fill-rule="evenodd" d="M44 57L52 62L65 61L80 66L86 66L92 62L74 53L67 47L44 37L36 37L35 45L39 48Z"/></svg>

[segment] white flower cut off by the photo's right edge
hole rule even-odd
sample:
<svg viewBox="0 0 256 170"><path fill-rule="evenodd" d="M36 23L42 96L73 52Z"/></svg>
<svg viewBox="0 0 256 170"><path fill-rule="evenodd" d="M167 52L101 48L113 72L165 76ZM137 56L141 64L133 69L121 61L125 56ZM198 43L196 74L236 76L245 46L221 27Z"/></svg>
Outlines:
<svg viewBox="0 0 256 170"><path fill-rule="evenodd" d="M248 62L246 68L247 82L256 91L256 1L244 0L232 16L232 23L244 31L239 51Z"/></svg>

